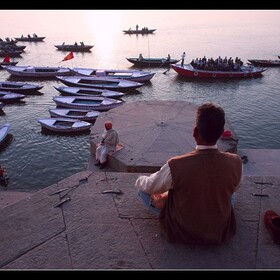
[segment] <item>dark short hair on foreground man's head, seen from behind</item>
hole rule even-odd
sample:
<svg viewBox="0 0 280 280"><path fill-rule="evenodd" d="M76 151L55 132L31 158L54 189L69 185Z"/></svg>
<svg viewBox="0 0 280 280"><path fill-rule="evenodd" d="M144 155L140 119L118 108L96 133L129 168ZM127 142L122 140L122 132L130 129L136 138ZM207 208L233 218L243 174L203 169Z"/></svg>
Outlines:
<svg viewBox="0 0 280 280"><path fill-rule="evenodd" d="M216 143L224 131L225 112L213 103L205 103L197 108L196 126L198 133L207 143Z"/></svg>

